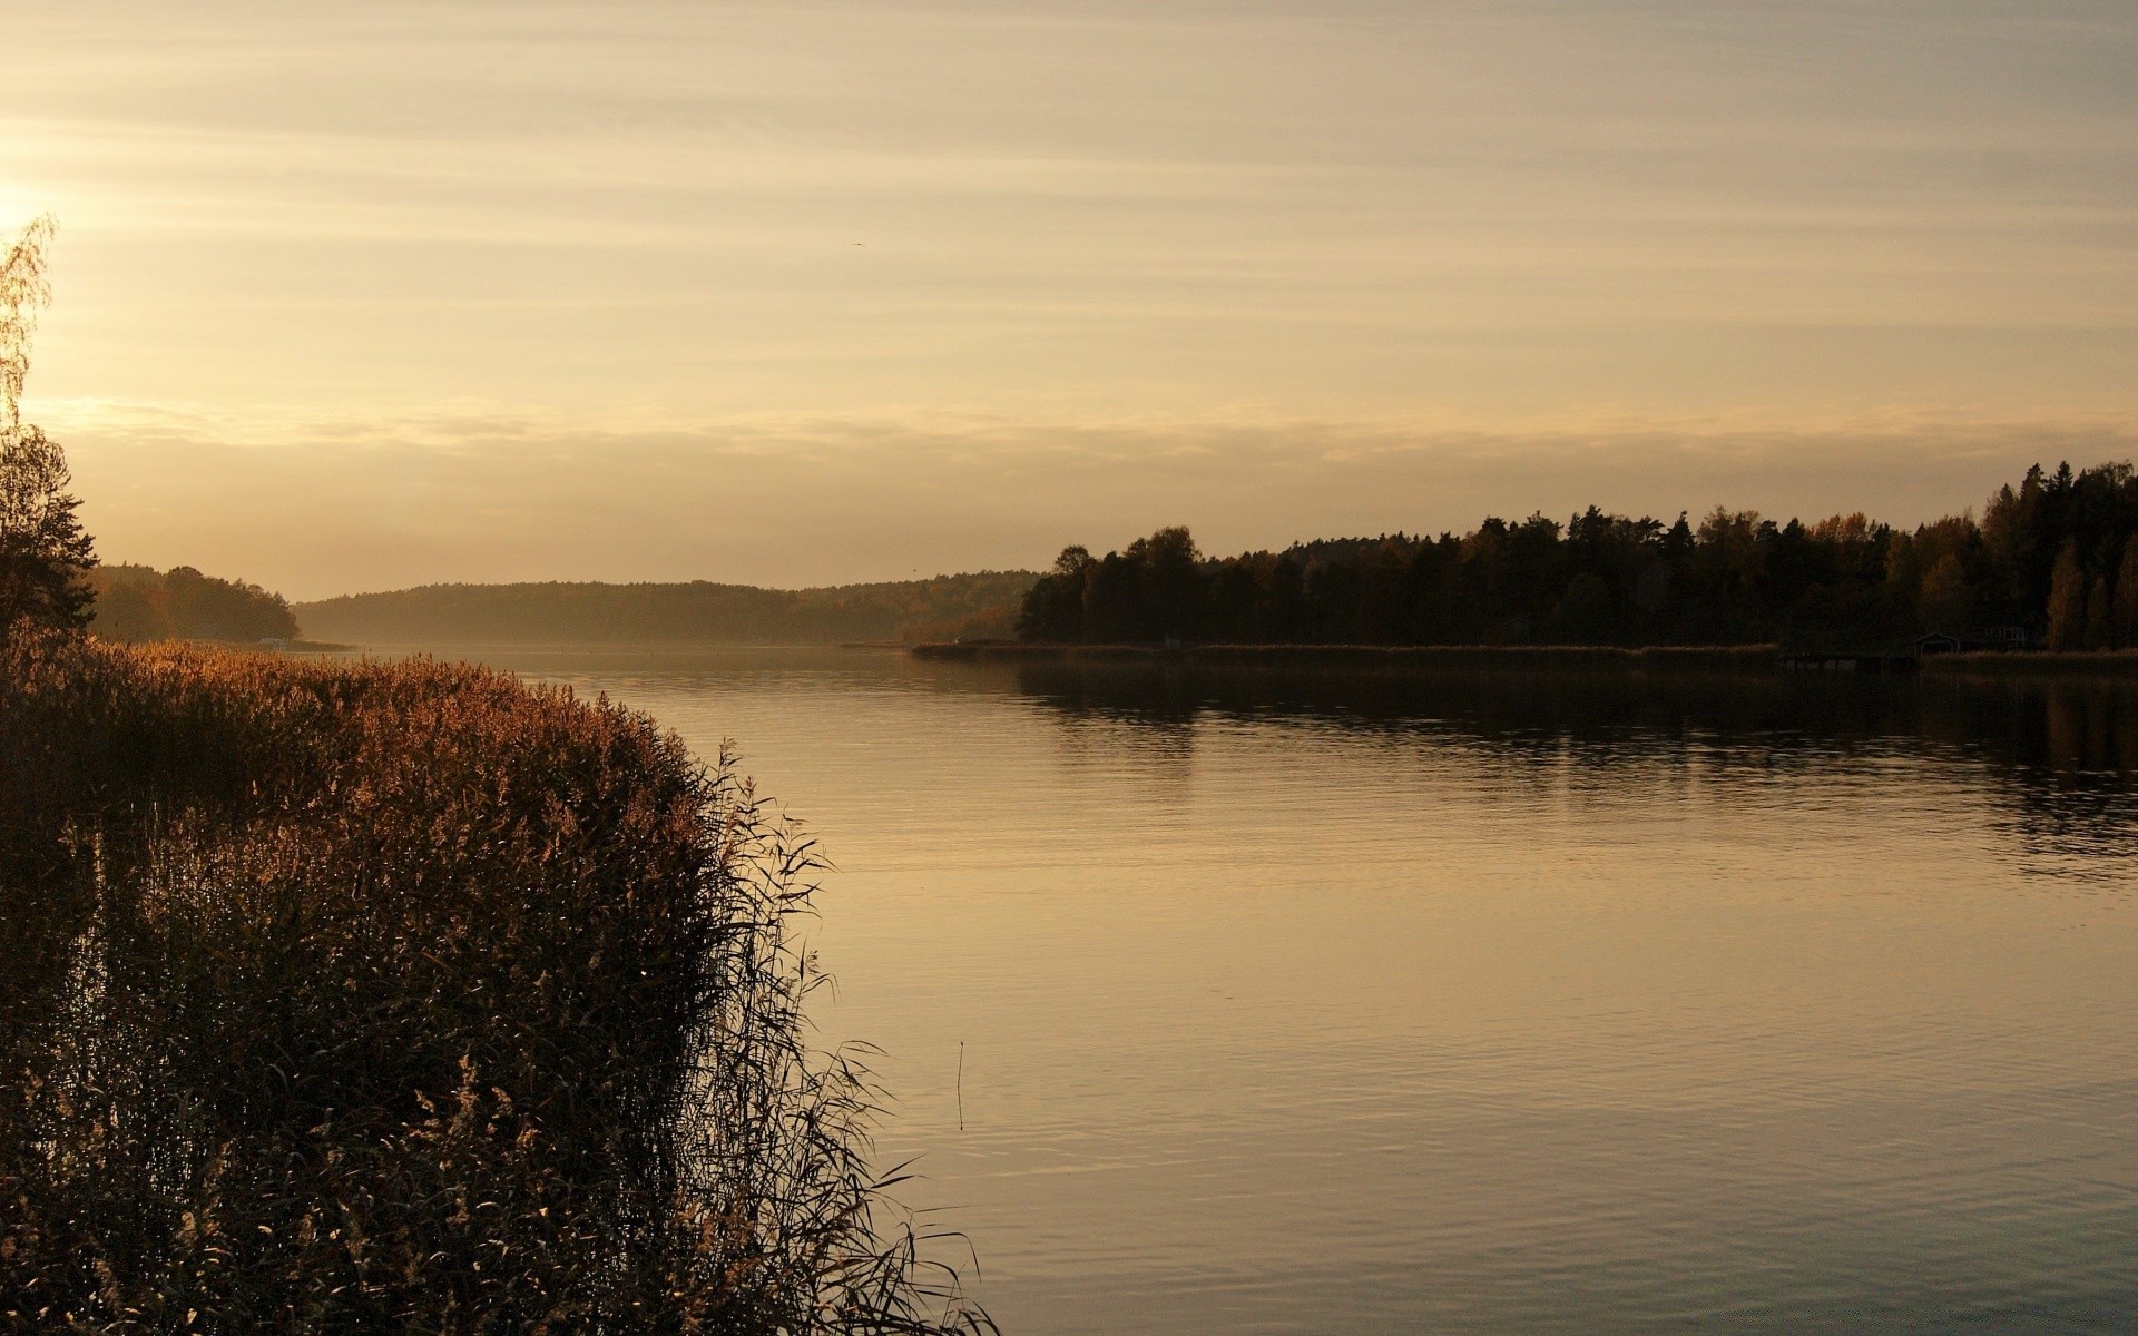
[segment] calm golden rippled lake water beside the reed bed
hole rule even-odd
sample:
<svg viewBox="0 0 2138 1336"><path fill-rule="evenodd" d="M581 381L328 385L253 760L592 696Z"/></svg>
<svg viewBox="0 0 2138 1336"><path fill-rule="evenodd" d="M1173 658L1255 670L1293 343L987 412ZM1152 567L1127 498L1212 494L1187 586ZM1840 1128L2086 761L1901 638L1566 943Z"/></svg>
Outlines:
<svg viewBox="0 0 2138 1336"><path fill-rule="evenodd" d="M492 661L819 834L1005 1330L2138 1330L2127 690Z"/></svg>

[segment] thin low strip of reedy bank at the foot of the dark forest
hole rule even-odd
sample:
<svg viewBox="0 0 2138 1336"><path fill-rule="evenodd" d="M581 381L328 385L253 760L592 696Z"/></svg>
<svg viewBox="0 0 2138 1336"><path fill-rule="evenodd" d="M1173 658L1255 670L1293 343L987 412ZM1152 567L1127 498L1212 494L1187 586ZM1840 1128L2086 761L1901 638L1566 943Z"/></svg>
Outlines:
<svg viewBox="0 0 2138 1336"><path fill-rule="evenodd" d="M1770 669L1775 646L915 646L962 663L1191 663L1208 667L1394 669Z"/></svg>

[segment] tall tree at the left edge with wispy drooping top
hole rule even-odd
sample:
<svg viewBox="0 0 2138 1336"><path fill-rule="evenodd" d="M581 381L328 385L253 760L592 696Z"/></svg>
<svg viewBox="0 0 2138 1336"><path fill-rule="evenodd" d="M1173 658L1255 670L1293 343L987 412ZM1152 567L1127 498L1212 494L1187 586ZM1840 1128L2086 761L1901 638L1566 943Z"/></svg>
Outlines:
<svg viewBox="0 0 2138 1336"><path fill-rule="evenodd" d="M86 581L96 547L68 494L66 453L21 421L36 314L51 301L45 248L51 218L38 218L0 257L0 635L17 622L79 631L94 594Z"/></svg>

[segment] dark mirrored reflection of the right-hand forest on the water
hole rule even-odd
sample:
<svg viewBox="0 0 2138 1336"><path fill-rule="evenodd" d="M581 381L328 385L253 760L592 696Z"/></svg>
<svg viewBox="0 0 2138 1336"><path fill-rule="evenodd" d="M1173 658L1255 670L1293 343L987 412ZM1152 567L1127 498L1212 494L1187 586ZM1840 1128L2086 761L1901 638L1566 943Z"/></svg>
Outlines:
<svg viewBox="0 0 2138 1336"><path fill-rule="evenodd" d="M1152 729L1302 718L1351 731L1439 727L1589 765L1676 759L1787 772L1903 746L1995 767L2014 829L2044 853L2138 838L2138 684L2102 680L1834 680L1728 673L1311 673L1018 665L1018 690L1065 718ZM1193 729L1189 729L1193 731ZM1755 740L1757 746L1742 746ZM2085 872L2078 866L2070 872ZM2112 868L2102 868L2112 872Z"/></svg>

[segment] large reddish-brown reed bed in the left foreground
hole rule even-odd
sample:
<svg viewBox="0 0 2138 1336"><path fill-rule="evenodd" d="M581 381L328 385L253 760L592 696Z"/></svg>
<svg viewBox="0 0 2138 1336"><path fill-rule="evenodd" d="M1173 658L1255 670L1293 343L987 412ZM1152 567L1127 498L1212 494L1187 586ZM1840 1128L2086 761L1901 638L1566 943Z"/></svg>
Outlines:
<svg viewBox="0 0 2138 1336"><path fill-rule="evenodd" d="M981 1327L866 1163L808 844L434 663L0 646L0 1319Z"/></svg>

